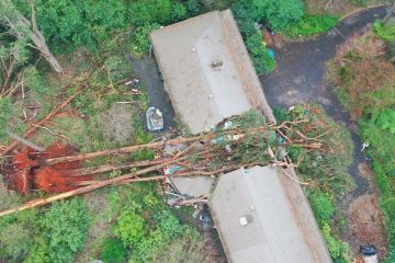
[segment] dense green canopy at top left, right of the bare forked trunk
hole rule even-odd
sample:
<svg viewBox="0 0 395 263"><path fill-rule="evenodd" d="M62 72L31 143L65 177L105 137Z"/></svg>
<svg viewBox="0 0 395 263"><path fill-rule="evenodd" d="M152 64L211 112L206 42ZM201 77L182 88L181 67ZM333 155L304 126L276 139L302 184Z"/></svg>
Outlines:
<svg viewBox="0 0 395 263"><path fill-rule="evenodd" d="M35 7L37 23L56 52L82 46L98 50L112 31L127 25L122 0L37 0Z"/></svg>

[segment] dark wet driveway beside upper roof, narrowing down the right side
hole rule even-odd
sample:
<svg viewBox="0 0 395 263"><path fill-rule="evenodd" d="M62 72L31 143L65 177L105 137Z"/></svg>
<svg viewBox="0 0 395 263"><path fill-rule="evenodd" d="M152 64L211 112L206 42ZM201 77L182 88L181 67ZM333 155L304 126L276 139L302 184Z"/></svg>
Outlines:
<svg viewBox="0 0 395 263"><path fill-rule="evenodd" d="M361 140L356 133L356 123L343 112L332 87L325 81L325 62L335 56L337 46L348 36L383 18L385 13L385 7L363 10L346 18L336 28L315 39L285 44L276 50L275 71L260 77L263 91L272 106L292 106L317 101L331 117L347 125L356 144L354 163L350 167L350 173L357 183L353 193L356 197L369 191L366 179L358 171L358 164L364 161L360 152Z"/></svg>

